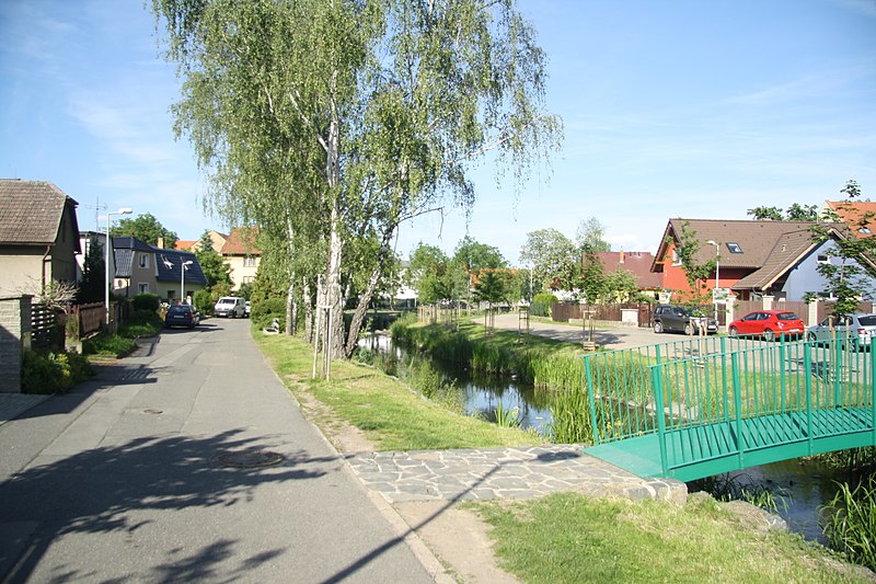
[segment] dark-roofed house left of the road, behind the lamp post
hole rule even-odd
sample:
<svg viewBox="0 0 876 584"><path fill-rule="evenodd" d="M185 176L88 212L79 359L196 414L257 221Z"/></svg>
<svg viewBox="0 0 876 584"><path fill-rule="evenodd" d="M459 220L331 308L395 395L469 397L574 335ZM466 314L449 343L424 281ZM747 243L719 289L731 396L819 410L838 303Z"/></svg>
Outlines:
<svg viewBox="0 0 876 584"><path fill-rule="evenodd" d="M207 277L192 252L149 245L132 237L113 238L113 251L116 264L114 294L131 297L151 293L173 302L180 299L183 284L187 296L207 285Z"/></svg>

